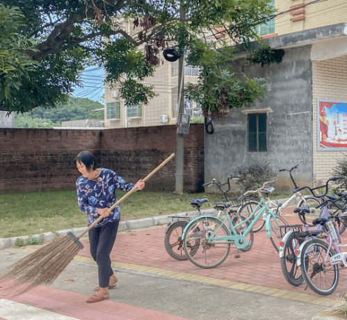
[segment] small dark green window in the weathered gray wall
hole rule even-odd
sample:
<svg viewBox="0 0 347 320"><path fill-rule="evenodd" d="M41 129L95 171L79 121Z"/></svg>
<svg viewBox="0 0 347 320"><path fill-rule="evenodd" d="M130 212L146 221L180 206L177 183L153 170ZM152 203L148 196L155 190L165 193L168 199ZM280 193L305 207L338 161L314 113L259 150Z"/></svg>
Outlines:
<svg viewBox="0 0 347 320"><path fill-rule="evenodd" d="M248 151L267 151L266 113L248 115Z"/></svg>

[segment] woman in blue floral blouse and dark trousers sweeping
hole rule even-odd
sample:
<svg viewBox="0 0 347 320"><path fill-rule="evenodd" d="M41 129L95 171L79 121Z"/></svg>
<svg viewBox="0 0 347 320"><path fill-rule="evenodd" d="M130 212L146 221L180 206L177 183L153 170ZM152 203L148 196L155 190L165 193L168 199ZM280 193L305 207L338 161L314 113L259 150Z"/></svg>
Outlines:
<svg viewBox="0 0 347 320"><path fill-rule="evenodd" d="M110 258L120 222L120 207L117 206L113 211L109 209L117 202L115 190L130 191L134 186L142 190L145 182L138 180L136 185L126 183L114 171L98 168L95 156L89 151L77 155L76 166L82 174L76 181L77 199L79 208L88 214L88 226L99 216L104 217L88 233L90 254L97 262L99 286L94 289L97 294L91 296L87 303L95 303L108 299L108 289L114 288L118 281Z"/></svg>

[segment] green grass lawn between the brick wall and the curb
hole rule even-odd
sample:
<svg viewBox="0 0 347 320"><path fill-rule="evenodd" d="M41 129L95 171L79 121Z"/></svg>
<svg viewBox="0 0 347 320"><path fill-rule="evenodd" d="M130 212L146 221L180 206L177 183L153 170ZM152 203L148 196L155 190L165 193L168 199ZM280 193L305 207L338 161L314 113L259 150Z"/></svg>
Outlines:
<svg viewBox="0 0 347 320"><path fill-rule="evenodd" d="M118 190L120 199L125 193ZM134 192L121 204L122 220L154 217L194 210L188 200L208 198L202 206L211 208L221 194L183 194ZM87 216L77 204L75 190L0 194L0 238L55 232L87 225Z"/></svg>

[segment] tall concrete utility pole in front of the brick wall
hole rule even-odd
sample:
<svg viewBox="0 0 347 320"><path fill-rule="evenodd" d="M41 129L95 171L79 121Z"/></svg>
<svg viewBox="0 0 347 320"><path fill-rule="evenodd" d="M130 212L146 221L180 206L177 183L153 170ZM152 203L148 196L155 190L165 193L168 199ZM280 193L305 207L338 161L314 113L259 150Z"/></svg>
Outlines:
<svg viewBox="0 0 347 320"><path fill-rule="evenodd" d="M183 3L183 0L181 0ZM179 17L183 23L184 10L181 6L179 10ZM177 121L179 114L184 113L184 51L179 57L178 61L178 96L177 105ZM183 182L184 182L184 135L177 133L177 146L176 146L176 185L175 193L183 194Z"/></svg>

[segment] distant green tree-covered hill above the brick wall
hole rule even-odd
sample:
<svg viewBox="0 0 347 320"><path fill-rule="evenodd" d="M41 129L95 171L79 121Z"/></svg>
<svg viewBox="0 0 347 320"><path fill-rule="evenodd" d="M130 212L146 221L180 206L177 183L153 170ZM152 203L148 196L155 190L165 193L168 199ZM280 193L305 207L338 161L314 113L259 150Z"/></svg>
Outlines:
<svg viewBox="0 0 347 320"><path fill-rule="evenodd" d="M104 119L104 111L92 111L104 108L102 103L87 98L71 97L67 103L56 108L35 108L15 116L16 128L51 128L61 126L63 121L81 119Z"/></svg>

